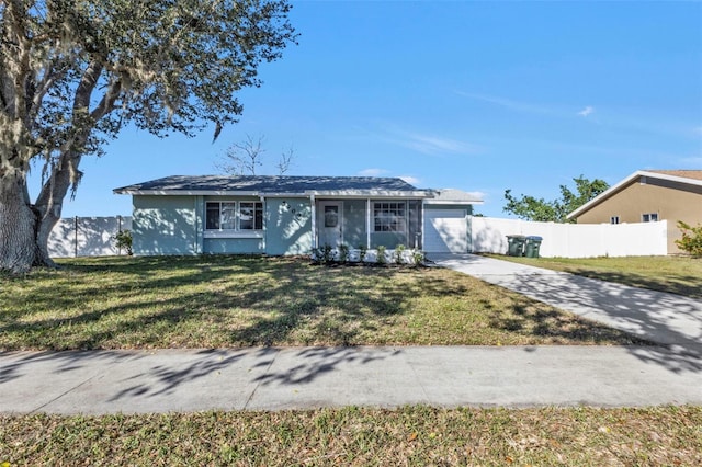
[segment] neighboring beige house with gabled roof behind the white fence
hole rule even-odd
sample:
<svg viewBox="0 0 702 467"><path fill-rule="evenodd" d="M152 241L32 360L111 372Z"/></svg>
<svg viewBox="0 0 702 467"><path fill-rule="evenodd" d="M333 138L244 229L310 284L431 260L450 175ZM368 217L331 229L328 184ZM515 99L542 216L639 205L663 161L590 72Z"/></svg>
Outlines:
<svg viewBox="0 0 702 467"><path fill-rule="evenodd" d="M702 224L702 170L639 170L568 214L578 224L668 220L668 253L681 253L678 220Z"/></svg>

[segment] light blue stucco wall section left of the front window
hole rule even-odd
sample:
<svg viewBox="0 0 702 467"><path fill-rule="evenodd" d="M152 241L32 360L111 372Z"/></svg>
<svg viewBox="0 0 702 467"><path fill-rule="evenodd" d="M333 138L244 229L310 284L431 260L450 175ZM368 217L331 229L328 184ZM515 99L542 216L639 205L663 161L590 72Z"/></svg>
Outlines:
<svg viewBox="0 0 702 467"><path fill-rule="evenodd" d="M195 196L133 196L134 254L196 254Z"/></svg>

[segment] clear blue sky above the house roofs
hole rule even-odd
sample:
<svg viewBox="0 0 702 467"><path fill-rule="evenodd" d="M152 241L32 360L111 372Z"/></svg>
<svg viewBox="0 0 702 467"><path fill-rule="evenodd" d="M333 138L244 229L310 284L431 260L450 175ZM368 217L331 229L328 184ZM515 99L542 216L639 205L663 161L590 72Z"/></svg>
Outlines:
<svg viewBox="0 0 702 467"><path fill-rule="evenodd" d="M275 174L404 176L554 198L580 174L702 169L702 2L293 1L299 45L261 67L239 124L212 144L126 128L86 158L64 216L128 215L112 189L217 173L246 135Z"/></svg>

